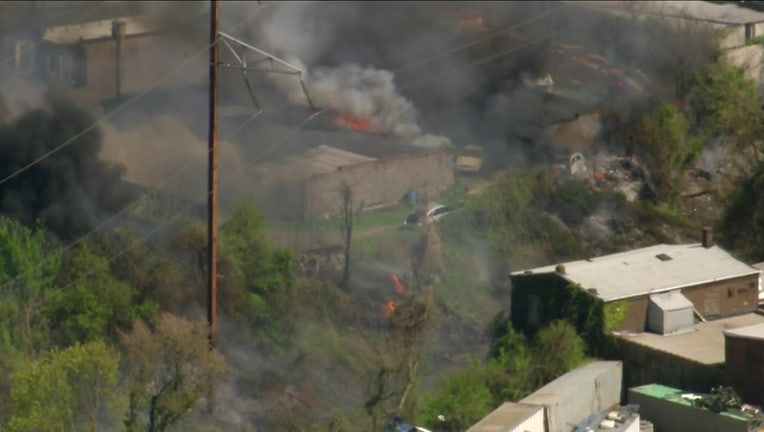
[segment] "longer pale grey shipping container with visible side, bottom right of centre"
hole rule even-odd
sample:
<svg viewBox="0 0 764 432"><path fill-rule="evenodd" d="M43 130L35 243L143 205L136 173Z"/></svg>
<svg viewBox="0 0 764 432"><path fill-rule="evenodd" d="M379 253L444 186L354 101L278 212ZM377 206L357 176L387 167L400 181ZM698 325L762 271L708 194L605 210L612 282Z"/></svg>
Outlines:
<svg viewBox="0 0 764 432"><path fill-rule="evenodd" d="M571 432L589 416L621 402L623 364L592 362L566 373L520 403L544 407L547 432Z"/></svg>

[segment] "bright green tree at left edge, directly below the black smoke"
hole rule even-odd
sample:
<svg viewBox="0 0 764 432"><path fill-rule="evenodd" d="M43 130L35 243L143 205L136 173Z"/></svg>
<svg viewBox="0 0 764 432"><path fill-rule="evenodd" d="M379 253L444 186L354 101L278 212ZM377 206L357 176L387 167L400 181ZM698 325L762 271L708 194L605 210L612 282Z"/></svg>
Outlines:
<svg viewBox="0 0 764 432"><path fill-rule="evenodd" d="M61 253L35 229L0 216L0 342L8 352L32 354L47 343L44 299L61 266Z"/></svg>

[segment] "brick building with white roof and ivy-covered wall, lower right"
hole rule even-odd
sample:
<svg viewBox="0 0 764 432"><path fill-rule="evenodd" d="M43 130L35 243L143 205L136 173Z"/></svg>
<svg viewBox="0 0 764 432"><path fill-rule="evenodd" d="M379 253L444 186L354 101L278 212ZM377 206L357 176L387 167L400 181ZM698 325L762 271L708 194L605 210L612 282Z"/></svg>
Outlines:
<svg viewBox="0 0 764 432"><path fill-rule="evenodd" d="M618 322L609 330L680 331L674 327L689 322L688 312L712 320L755 311L759 270L714 245L710 230L703 234L699 244L662 244L512 273L513 324L540 328L564 318L571 288L610 308ZM651 309L663 310L656 319Z"/></svg>

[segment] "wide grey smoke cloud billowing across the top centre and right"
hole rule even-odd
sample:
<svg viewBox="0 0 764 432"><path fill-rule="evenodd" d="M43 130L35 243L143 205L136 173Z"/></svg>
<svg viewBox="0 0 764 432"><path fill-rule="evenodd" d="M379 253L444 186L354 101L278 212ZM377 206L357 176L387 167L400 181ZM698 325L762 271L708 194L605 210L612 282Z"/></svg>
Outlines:
<svg viewBox="0 0 764 432"><path fill-rule="evenodd" d="M245 5L223 14L233 22L254 7ZM482 28L454 31L470 14L482 17ZM576 2L267 3L242 38L304 67L309 88L317 76L332 87L332 72L335 87L353 82L352 68L366 76L389 72L423 132L492 148L500 164L519 143L577 113L630 111L650 96L681 98L692 70L713 54L699 25L659 25ZM582 100L528 87L547 74L580 85ZM619 81L639 90L620 90ZM356 103L359 93L352 93Z"/></svg>

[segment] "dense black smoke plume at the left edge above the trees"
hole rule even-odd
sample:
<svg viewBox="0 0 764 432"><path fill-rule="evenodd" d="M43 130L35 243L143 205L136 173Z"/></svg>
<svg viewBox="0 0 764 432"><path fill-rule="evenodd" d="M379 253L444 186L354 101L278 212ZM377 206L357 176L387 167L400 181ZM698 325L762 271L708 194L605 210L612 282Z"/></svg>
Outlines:
<svg viewBox="0 0 764 432"><path fill-rule="evenodd" d="M56 96L0 125L0 177L7 178L89 127L94 119ZM0 184L0 212L38 221L69 240L89 231L131 200L122 168L99 157L101 133L91 130Z"/></svg>

